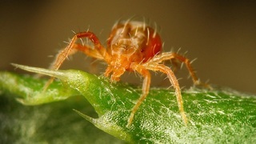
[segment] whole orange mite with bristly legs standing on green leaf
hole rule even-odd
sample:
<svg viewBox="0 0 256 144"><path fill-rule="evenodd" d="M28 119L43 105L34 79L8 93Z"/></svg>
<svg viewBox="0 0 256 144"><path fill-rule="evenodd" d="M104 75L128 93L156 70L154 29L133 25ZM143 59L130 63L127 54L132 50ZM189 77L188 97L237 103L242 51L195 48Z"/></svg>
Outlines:
<svg viewBox="0 0 256 144"><path fill-rule="evenodd" d="M94 46L86 46L78 43L77 40L79 38L90 39ZM69 45L57 54L55 61L50 66L50 69L58 70L64 60L70 54L74 54L78 50L92 58L104 60L108 65L104 75L106 77L110 76L111 81L119 81L120 77L126 72L126 70L138 72L138 74L141 74L144 78L142 94L131 109L130 117L127 120L127 126L130 126L133 121L134 114L149 94L151 80L149 70L160 71L167 75L171 85L174 87L178 102L178 109L182 119L185 124L187 123L178 80L175 77L173 70L162 64L162 62L174 59L184 62L190 72L194 84L198 85L200 82L194 74L194 70L190 66L188 58L173 52L161 53L162 40L159 34L153 28L147 26L145 22L134 22L130 20L126 22L117 22L110 33L110 37L107 39L106 48L102 46L97 36L90 31L75 34ZM51 78L49 82L46 83L45 90L53 79L54 78Z"/></svg>

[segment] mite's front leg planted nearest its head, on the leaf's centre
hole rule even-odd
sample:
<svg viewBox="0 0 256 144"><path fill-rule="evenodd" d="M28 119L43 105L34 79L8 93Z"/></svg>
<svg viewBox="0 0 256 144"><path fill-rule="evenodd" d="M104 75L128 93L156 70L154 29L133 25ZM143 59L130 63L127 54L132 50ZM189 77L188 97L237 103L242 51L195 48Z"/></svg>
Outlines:
<svg viewBox="0 0 256 144"><path fill-rule="evenodd" d="M134 114L138 110L138 107L141 106L142 102L146 98L146 96L149 94L150 91L150 72L144 68L144 66L137 65L134 66L134 70L138 71L139 74L142 74L144 77L143 85L142 85L142 95L140 98L138 98L137 103L134 105L133 109L131 110L130 117L128 118L128 123L126 126L130 126L131 122L134 119Z"/></svg>

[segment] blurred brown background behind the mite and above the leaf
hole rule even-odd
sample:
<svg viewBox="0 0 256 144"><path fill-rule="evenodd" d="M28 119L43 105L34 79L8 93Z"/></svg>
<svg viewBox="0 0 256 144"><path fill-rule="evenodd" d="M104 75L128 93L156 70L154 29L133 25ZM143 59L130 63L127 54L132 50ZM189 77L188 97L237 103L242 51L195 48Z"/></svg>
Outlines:
<svg viewBox="0 0 256 144"><path fill-rule="evenodd" d="M233 1L2 1L0 2L0 70L10 62L48 67L49 57L74 35L93 31L102 43L118 18L149 18L161 27L164 50L182 48L202 81L256 94L256 2ZM89 70L90 61L76 54L62 69ZM104 67L99 66L99 70ZM21 72L21 70L16 70ZM185 66L177 77L190 85ZM159 75L158 75L159 76ZM133 74L122 78L126 82ZM162 76L165 78L165 76ZM162 86L162 78L154 85ZM139 79L139 78L137 78Z"/></svg>

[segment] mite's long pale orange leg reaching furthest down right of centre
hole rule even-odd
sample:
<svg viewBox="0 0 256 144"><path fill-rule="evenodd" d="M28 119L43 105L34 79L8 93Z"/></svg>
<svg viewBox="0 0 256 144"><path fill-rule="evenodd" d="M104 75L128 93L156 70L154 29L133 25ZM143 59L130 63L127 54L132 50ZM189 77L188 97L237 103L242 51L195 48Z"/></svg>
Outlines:
<svg viewBox="0 0 256 144"><path fill-rule="evenodd" d="M162 65L162 64L158 64L158 63L146 62L143 65L148 70L161 71L162 73L167 74L167 77L169 78L170 83L174 87L175 95L176 95L177 102L178 102L178 109L179 109L179 112L182 116L182 119L183 119L183 121L186 125L187 124L187 118L186 118L186 114L185 114L185 111L184 111L184 108L183 108L181 89L178 85L178 80L175 77L174 72L172 70L170 70L169 67L167 67L165 65Z"/></svg>

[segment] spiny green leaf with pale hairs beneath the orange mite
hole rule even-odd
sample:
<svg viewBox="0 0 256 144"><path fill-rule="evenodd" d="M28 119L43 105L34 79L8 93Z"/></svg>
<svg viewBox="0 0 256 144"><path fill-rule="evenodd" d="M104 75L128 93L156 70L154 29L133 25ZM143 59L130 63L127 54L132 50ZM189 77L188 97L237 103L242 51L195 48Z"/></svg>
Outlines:
<svg viewBox="0 0 256 144"><path fill-rule="evenodd" d="M44 80L2 72L0 88L5 93L18 95L19 101L27 105L62 101L82 95L94 107L98 118L91 118L81 110L75 111L94 126L126 142L256 142L256 98L252 95L216 88L183 90L184 108L189 118L189 125L185 126L174 91L151 88L132 124L126 127L130 110L137 102L141 89L120 82L111 83L107 78L79 70L54 71L15 66L58 78L60 82L54 82L42 92Z"/></svg>

